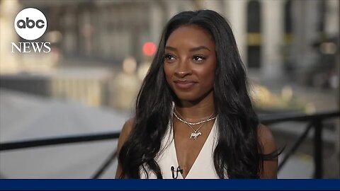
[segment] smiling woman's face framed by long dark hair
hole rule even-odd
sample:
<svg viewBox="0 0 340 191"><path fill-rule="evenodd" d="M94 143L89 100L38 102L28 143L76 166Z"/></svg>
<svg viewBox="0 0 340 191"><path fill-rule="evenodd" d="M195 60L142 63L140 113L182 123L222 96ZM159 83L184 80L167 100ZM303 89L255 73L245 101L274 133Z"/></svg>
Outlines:
<svg viewBox="0 0 340 191"><path fill-rule="evenodd" d="M177 28L166 41L164 55L166 81L179 100L212 95L216 54L207 30L195 25Z"/></svg>

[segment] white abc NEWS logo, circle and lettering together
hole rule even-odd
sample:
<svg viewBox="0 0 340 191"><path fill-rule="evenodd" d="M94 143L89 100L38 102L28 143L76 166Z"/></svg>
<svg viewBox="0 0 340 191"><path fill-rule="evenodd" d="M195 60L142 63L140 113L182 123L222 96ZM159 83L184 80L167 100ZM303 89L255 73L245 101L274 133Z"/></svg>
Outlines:
<svg viewBox="0 0 340 191"><path fill-rule="evenodd" d="M14 20L16 33L25 40L37 40L47 28L45 15L36 8L25 8ZM11 42L12 52L51 52L50 42Z"/></svg>

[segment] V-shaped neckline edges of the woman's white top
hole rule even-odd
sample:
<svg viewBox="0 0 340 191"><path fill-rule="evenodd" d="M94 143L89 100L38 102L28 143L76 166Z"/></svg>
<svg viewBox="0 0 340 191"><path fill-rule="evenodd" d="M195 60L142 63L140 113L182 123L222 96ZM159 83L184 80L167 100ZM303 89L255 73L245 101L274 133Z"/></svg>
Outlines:
<svg viewBox="0 0 340 191"><path fill-rule="evenodd" d="M208 141L210 141L210 139L212 139L212 134L215 133L215 125L216 125L216 122L217 122L217 118L215 119L215 122L214 122L214 125L212 125L212 128L210 129L210 132L209 132L209 135L207 137L207 139L205 140L202 148L200 149L200 152L198 153L198 156L196 157L195 161L193 161L193 165L191 166L190 170L188 171L188 174L186 174L186 178L183 178L183 175L181 173L179 173L181 175L181 178L183 179L187 179L189 177L189 175L191 175L191 172L193 171L193 169L195 169L195 164L197 163L197 161L200 159L200 155L203 153ZM171 125L171 135L172 135L172 143L173 146L171 146L173 149L173 153L174 153L174 158L175 158L175 161L176 161L176 166L179 166L179 160L177 158L177 151L176 151L176 144L175 144L175 134L174 134L174 125ZM189 177L190 178L190 177Z"/></svg>

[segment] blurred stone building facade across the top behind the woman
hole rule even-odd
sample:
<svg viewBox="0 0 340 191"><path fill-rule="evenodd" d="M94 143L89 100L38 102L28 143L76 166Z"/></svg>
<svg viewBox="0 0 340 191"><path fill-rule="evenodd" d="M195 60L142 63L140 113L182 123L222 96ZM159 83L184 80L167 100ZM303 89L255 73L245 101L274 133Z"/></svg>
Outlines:
<svg viewBox="0 0 340 191"><path fill-rule="evenodd" d="M13 2L1 1L1 7L9 10L1 18L16 16L21 8L39 8L49 21L47 32L61 34L55 47L66 57L122 63L132 55L142 62L143 43L157 43L171 16L199 8L215 10L229 20L244 63L268 79L283 77L288 71L290 77L300 76L304 83L322 83L317 81L322 81L323 76L310 79L308 75L314 75L311 67L324 62L324 54L335 57L339 52L339 1L336 0ZM325 41L331 43L322 44ZM313 46L317 42L319 45ZM320 72L335 69L334 63L323 63L324 71ZM339 79L339 72L329 74L332 75Z"/></svg>

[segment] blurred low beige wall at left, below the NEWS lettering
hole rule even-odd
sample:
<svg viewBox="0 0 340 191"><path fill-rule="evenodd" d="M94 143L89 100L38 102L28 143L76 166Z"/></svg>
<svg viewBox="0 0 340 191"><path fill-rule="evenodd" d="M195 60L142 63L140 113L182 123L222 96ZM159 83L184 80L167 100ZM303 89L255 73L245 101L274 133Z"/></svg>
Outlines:
<svg viewBox="0 0 340 191"><path fill-rule="evenodd" d="M98 107L108 105L111 78L111 72L106 69L73 67L44 74L3 74L0 87Z"/></svg>

